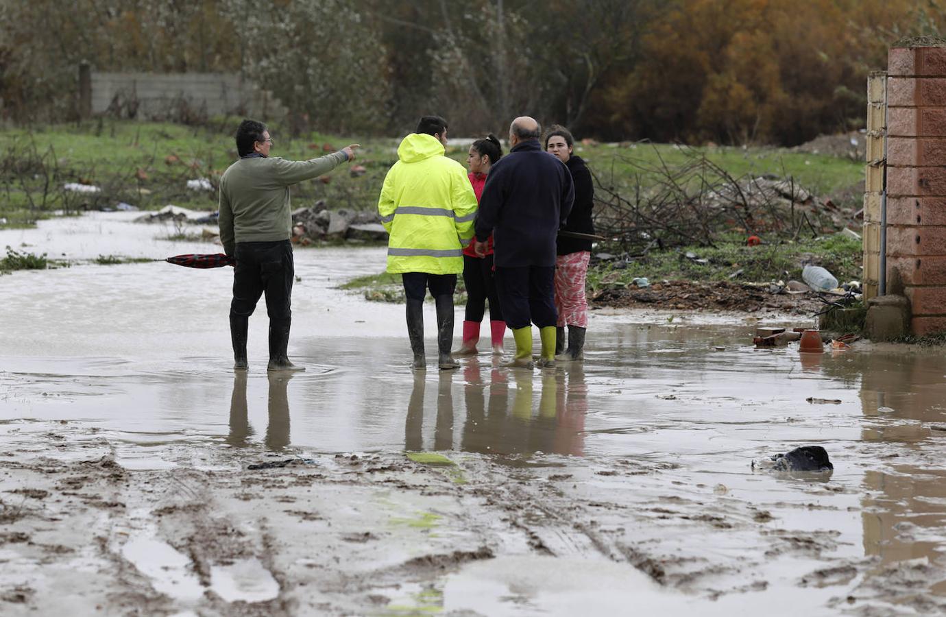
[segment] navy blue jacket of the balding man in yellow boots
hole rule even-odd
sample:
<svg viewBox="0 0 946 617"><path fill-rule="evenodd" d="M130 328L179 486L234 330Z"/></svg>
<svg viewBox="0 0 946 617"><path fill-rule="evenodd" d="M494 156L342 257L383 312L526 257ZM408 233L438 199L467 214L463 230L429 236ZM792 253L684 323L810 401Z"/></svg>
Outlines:
<svg viewBox="0 0 946 617"><path fill-rule="evenodd" d="M537 140L519 142L489 170L476 238L493 234L499 268L555 265L555 235L575 200L571 173Z"/></svg>

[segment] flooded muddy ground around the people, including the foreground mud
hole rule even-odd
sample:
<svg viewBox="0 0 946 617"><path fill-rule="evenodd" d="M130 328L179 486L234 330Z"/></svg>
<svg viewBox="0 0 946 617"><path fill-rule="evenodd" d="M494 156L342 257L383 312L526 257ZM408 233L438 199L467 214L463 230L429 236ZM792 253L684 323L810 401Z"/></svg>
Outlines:
<svg viewBox="0 0 946 617"><path fill-rule="evenodd" d="M337 289L384 250L333 248L295 252L307 371L261 303L235 375L232 271L89 263L219 251L132 218L0 232L74 262L0 276L0 612L946 608L939 349L596 310L584 363L412 373L403 307ZM751 467L804 445L833 472Z"/></svg>

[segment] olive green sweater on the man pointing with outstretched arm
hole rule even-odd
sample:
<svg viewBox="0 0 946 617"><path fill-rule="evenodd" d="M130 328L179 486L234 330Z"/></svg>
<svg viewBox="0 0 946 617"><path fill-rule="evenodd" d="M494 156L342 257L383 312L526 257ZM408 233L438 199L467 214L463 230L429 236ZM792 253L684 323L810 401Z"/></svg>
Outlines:
<svg viewBox="0 0 946 617"><path fill-rule="evenodd" d="M236 242L288 240L289 185L318 178L347 160L339 151L309 161L249 157L227 167L219 197L220 241L226 254L234 254Z"/></svg>

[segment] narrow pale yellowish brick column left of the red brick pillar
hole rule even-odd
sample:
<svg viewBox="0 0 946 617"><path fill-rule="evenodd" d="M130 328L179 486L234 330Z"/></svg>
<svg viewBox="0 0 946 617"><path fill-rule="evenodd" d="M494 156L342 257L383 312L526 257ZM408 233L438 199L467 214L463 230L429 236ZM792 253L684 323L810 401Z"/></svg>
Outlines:
<svg viewBox="0 0 946 617"><path fill-rule="evenodd" d="M864 186L864 299L877 295L881 280L881 197L884 190L886 73L867 79L867 169Z"/></svg>

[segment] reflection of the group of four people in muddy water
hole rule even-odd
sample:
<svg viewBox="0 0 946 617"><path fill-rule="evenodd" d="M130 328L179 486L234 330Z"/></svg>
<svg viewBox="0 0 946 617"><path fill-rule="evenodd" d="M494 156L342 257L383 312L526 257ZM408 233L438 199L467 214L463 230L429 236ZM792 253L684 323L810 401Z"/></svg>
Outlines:
<svg viewBox="0 0 946 617"><path fill-rule="evenodd" d="M404 427L405 450L428 450L424 424L425 416L432 416L430 450L584 453L587 385L580 364L533 373L473 361L462 375L463 403L455 400L451 374L440 373L434 405L426 396L427 376L414 376ZM464 418L458 437L455 414Z"/></svg>

